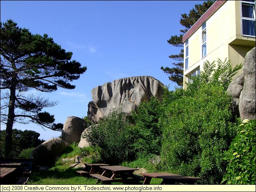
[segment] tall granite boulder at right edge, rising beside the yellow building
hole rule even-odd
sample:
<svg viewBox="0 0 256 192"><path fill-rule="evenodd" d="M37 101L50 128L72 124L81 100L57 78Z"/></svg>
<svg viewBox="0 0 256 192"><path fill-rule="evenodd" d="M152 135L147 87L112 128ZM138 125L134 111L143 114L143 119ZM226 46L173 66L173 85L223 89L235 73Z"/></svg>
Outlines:
<svg viewBox="0 0 256 192"><path fill-rule="evenodd" d="M255 47L250 50L243 64L244 86L239 98L239 112L242 120L255 119Z"/></svg>

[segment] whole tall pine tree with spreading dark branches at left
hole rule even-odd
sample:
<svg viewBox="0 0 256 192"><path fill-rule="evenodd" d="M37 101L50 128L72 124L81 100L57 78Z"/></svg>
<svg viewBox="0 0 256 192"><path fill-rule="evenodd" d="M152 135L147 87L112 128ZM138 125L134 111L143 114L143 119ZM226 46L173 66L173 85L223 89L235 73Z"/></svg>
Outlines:
<svg viewBox="0 0 256 192"><path fill-rule="evenodd" d="M41 112L58 102L50 102L30 90L53 92L58 87L74 89L70 82L80 78L87 68L71 60L72 52L66 52L47 34L31 34L28 29L19 28L13 20L0 24L0 117L1 122L6 124L4 155L7 157L12 150L14 122L32 122L52 130L63 128L62 124L54 123L54 115Z"/></svg>

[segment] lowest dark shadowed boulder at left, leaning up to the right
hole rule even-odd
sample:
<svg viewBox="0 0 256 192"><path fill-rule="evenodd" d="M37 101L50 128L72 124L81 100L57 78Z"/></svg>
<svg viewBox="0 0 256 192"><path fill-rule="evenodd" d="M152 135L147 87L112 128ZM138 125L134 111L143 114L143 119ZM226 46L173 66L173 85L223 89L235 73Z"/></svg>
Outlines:
<svg viewBox="0 0 256 192"><path fill-rule="evenodd" d="M55 159L60 156L68 144L61 138L52 138L40 144L32 150L30 158L34 166L51 166Z"/></svg>

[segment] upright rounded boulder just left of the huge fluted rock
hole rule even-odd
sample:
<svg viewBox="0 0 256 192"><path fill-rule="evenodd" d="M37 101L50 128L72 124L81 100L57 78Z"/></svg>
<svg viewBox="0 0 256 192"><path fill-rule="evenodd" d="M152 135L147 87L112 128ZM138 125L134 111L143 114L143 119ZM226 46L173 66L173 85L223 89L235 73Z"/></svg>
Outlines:
<svg viewBox="0 0 256 192"><path fill-rule="evenodd" d="M64 123L61 138L68 144L71 144L73 142L79 143L81 134L86 128L87 123L85 120L79 117L70 116L66 119L66 122Z"/></svg>

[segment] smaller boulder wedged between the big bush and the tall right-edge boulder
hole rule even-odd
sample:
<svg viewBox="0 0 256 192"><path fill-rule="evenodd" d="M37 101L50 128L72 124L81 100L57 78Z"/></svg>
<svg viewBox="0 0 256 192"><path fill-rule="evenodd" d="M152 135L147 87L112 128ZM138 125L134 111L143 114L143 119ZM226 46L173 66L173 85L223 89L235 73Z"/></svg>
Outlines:
<svg viewBox="0 0 256 192"><path fill-rule="evenodd" d="M232 113L234 116L240 117L239 113L239 98L244 87L244 74L240 74L229 84L227 92L232 96Z"/></svg>

